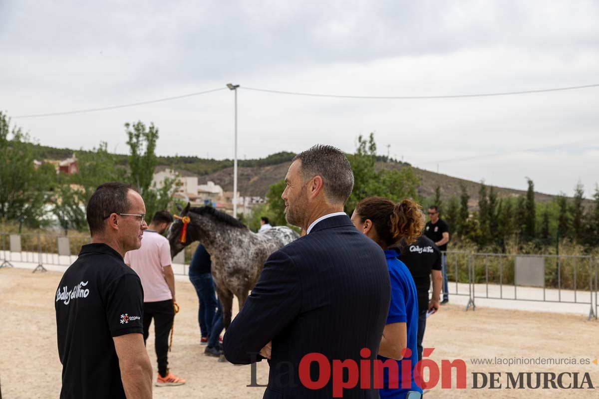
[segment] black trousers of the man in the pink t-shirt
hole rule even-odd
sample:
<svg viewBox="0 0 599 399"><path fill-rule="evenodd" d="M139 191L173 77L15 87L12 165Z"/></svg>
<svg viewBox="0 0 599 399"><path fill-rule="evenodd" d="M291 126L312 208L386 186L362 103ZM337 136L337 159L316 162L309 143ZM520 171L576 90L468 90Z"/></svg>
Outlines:
<svg viewBox="0 0 599 399"><path fill-rule="evenodd" d="M144 302L144 345L150 335L150 323L154 319L154 333L156 335L156 358L158 358L158 373L167 375L168 366L168 334L173 327L175 309L173 300L168 299L158 302Z"/></svg>

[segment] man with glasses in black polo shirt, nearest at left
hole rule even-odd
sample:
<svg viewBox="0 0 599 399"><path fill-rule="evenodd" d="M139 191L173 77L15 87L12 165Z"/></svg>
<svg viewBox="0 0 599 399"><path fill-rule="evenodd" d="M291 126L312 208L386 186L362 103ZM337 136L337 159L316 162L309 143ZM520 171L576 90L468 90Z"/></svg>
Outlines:
<svg viewBox="0 0 599 399"><path fill-rule="evenodd" d="M146 206L128 185L100 185L87 204L92 235L56 291L60 398L151 398L143 288L123 255L140 248Z"/></svg>

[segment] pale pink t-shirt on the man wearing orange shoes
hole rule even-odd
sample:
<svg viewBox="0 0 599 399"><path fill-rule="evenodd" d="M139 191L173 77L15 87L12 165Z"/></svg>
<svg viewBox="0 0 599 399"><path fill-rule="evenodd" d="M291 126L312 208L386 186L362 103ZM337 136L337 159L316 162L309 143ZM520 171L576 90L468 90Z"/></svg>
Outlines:
<svg viewBox="0 0 599 399"><path fill-rule="evenodd" d="M163 267L172 263L171 247L164 236L146 230L141 239L141 248L127 252L125 263L140 276L144 302L173 299L162 271Z"/></svg>

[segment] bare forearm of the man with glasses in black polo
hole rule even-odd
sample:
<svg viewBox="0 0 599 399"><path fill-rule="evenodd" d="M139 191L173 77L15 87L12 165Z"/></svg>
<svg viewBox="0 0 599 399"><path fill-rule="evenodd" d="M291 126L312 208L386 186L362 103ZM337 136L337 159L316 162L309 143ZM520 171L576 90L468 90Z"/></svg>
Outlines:
<svg viewBox="0 0 599 399"><path fill-rule="evenodd" d="M152 364L142 334L113 337L127 399L152 398Z"/></svg>

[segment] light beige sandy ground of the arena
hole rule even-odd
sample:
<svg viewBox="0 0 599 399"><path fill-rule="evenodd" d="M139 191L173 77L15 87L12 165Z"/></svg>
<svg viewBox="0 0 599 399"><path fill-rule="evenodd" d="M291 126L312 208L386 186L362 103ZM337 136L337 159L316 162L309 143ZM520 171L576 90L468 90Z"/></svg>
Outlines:
<svg viewBox="0 0 599 399"><path fill-rule="evenodd" d="M2 398L56 398L60 391L61 365L56 349L55 290L62 274L35 273L26 269L0 269L0 386ZM155 398L261 398L264 388L248 388L249 366L232 366L205 357L199 345L195 291L187 281L177 281L181 311L176 317L170 367L187 379L184 386L154 388ZM523 312L477 307L464 312L448 305L428 319L425 347L435 348L431 359L463 359L467 365L467 389L439 386L432 398L595 398L595 389L505 389L507 372L588 372L599 386L599 366L496 366L474 365L472 358L582 358L599 357L599 322L582 315ZM343 331L339 332L343 334ZM156 370L150 334L150 359ZM471 373L501 372L501 389L473 389ZM257 366L258 383L266 383L268 364ZM565 383L571 381L570 377Z"/></svg>

